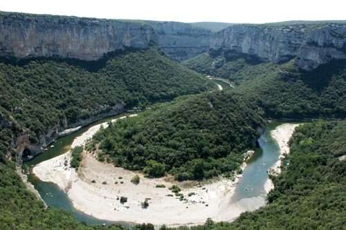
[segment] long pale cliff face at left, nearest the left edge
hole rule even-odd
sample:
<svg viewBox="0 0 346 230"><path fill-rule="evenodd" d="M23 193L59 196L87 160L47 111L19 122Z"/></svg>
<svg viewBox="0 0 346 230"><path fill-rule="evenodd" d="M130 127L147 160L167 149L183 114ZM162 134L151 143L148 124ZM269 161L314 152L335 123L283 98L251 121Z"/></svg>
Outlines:
<svg viewBox="0 0 346 230"><path fill-rule="evenodd" d="M120 21L59 17L0 18L0 55L95 60L125 47L148 48L158 35L151 26Z"/></svg>

